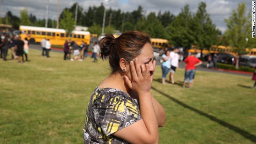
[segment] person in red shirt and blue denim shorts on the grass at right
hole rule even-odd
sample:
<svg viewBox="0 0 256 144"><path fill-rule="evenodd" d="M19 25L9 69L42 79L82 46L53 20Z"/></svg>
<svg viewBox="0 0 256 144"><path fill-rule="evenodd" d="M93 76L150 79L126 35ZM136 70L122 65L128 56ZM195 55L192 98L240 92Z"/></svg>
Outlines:
<svg viewBox="0 0 256 144"><path fill-rule="evenodd" d="M188 88L192 87L193 84L193 76L196 72L196 66L199 66L202 64L202 61L195 57L195 54L192 54L191 56L188 56L185 60L186 63L186 71L185 71L185 78L184 83L182 87L186 86L187 80L189 78L189 85Z"/></svg>

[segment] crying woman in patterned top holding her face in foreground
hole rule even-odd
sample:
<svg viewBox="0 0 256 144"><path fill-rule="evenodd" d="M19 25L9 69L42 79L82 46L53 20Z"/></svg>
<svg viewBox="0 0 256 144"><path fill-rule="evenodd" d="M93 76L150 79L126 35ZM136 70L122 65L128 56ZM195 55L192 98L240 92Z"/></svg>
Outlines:
<svg viewBox="0 0 256 144"><path fill-rule="evenodd" d="M100 40L101 58L111 67L88 103L84 144L156 144L165 110L150 92L155 64L150 37L126 32Z"/></svg>

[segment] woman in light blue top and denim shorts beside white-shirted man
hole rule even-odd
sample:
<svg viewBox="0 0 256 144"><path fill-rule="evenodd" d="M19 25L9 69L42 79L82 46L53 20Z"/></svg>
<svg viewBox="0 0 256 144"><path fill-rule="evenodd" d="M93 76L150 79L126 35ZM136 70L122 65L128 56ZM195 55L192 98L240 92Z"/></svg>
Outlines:
<svg viewBox="0 0 256 144"><path fill-rule="evenodd" d="M162 59L164 60L164 62L162 63L162 84L166 84L165 78L171 68L170 51L165 51L162 55Z"/></svg>

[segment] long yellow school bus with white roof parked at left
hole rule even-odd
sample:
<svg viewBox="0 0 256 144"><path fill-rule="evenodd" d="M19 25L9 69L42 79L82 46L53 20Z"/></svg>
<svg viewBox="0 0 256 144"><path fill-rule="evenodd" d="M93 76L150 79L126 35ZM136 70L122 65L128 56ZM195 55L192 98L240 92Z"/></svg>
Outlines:
<svg viewBox="0 0 256 144"><path fill-rule="evenodd" d="M44 28L36 26L20 26L20 37L22 40L28 38L29 42L41 42L43 38L49 39L52 45L63 45L65 40L71 39L80 44L82 41L90 44L90 32L72 31L72 34L66 34L64 29Z"/></svg>

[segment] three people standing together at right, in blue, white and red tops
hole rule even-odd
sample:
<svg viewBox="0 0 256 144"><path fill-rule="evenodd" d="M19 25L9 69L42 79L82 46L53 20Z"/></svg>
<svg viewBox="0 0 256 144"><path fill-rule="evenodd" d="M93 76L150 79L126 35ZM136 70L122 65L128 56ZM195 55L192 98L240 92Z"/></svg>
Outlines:
<svg viewBox="0 0 256 144"><path fill-rule="evenodd" d="M178 56L178 48L174 48L172 52L169 50L165 50L162 55L162 84L166 84L166 76L170 71L169 79L172 84L174 84L174 74L177 68L179 68L179 56ZM196 72L196 66L202 64L202 61L196 58L196 54L191 54L188 56L185 61L186 69L185 69L185 78L183 82L183 87L186 87L187 80L189 78L189 86L191 88L193 85L194 74Z"/></svg>

